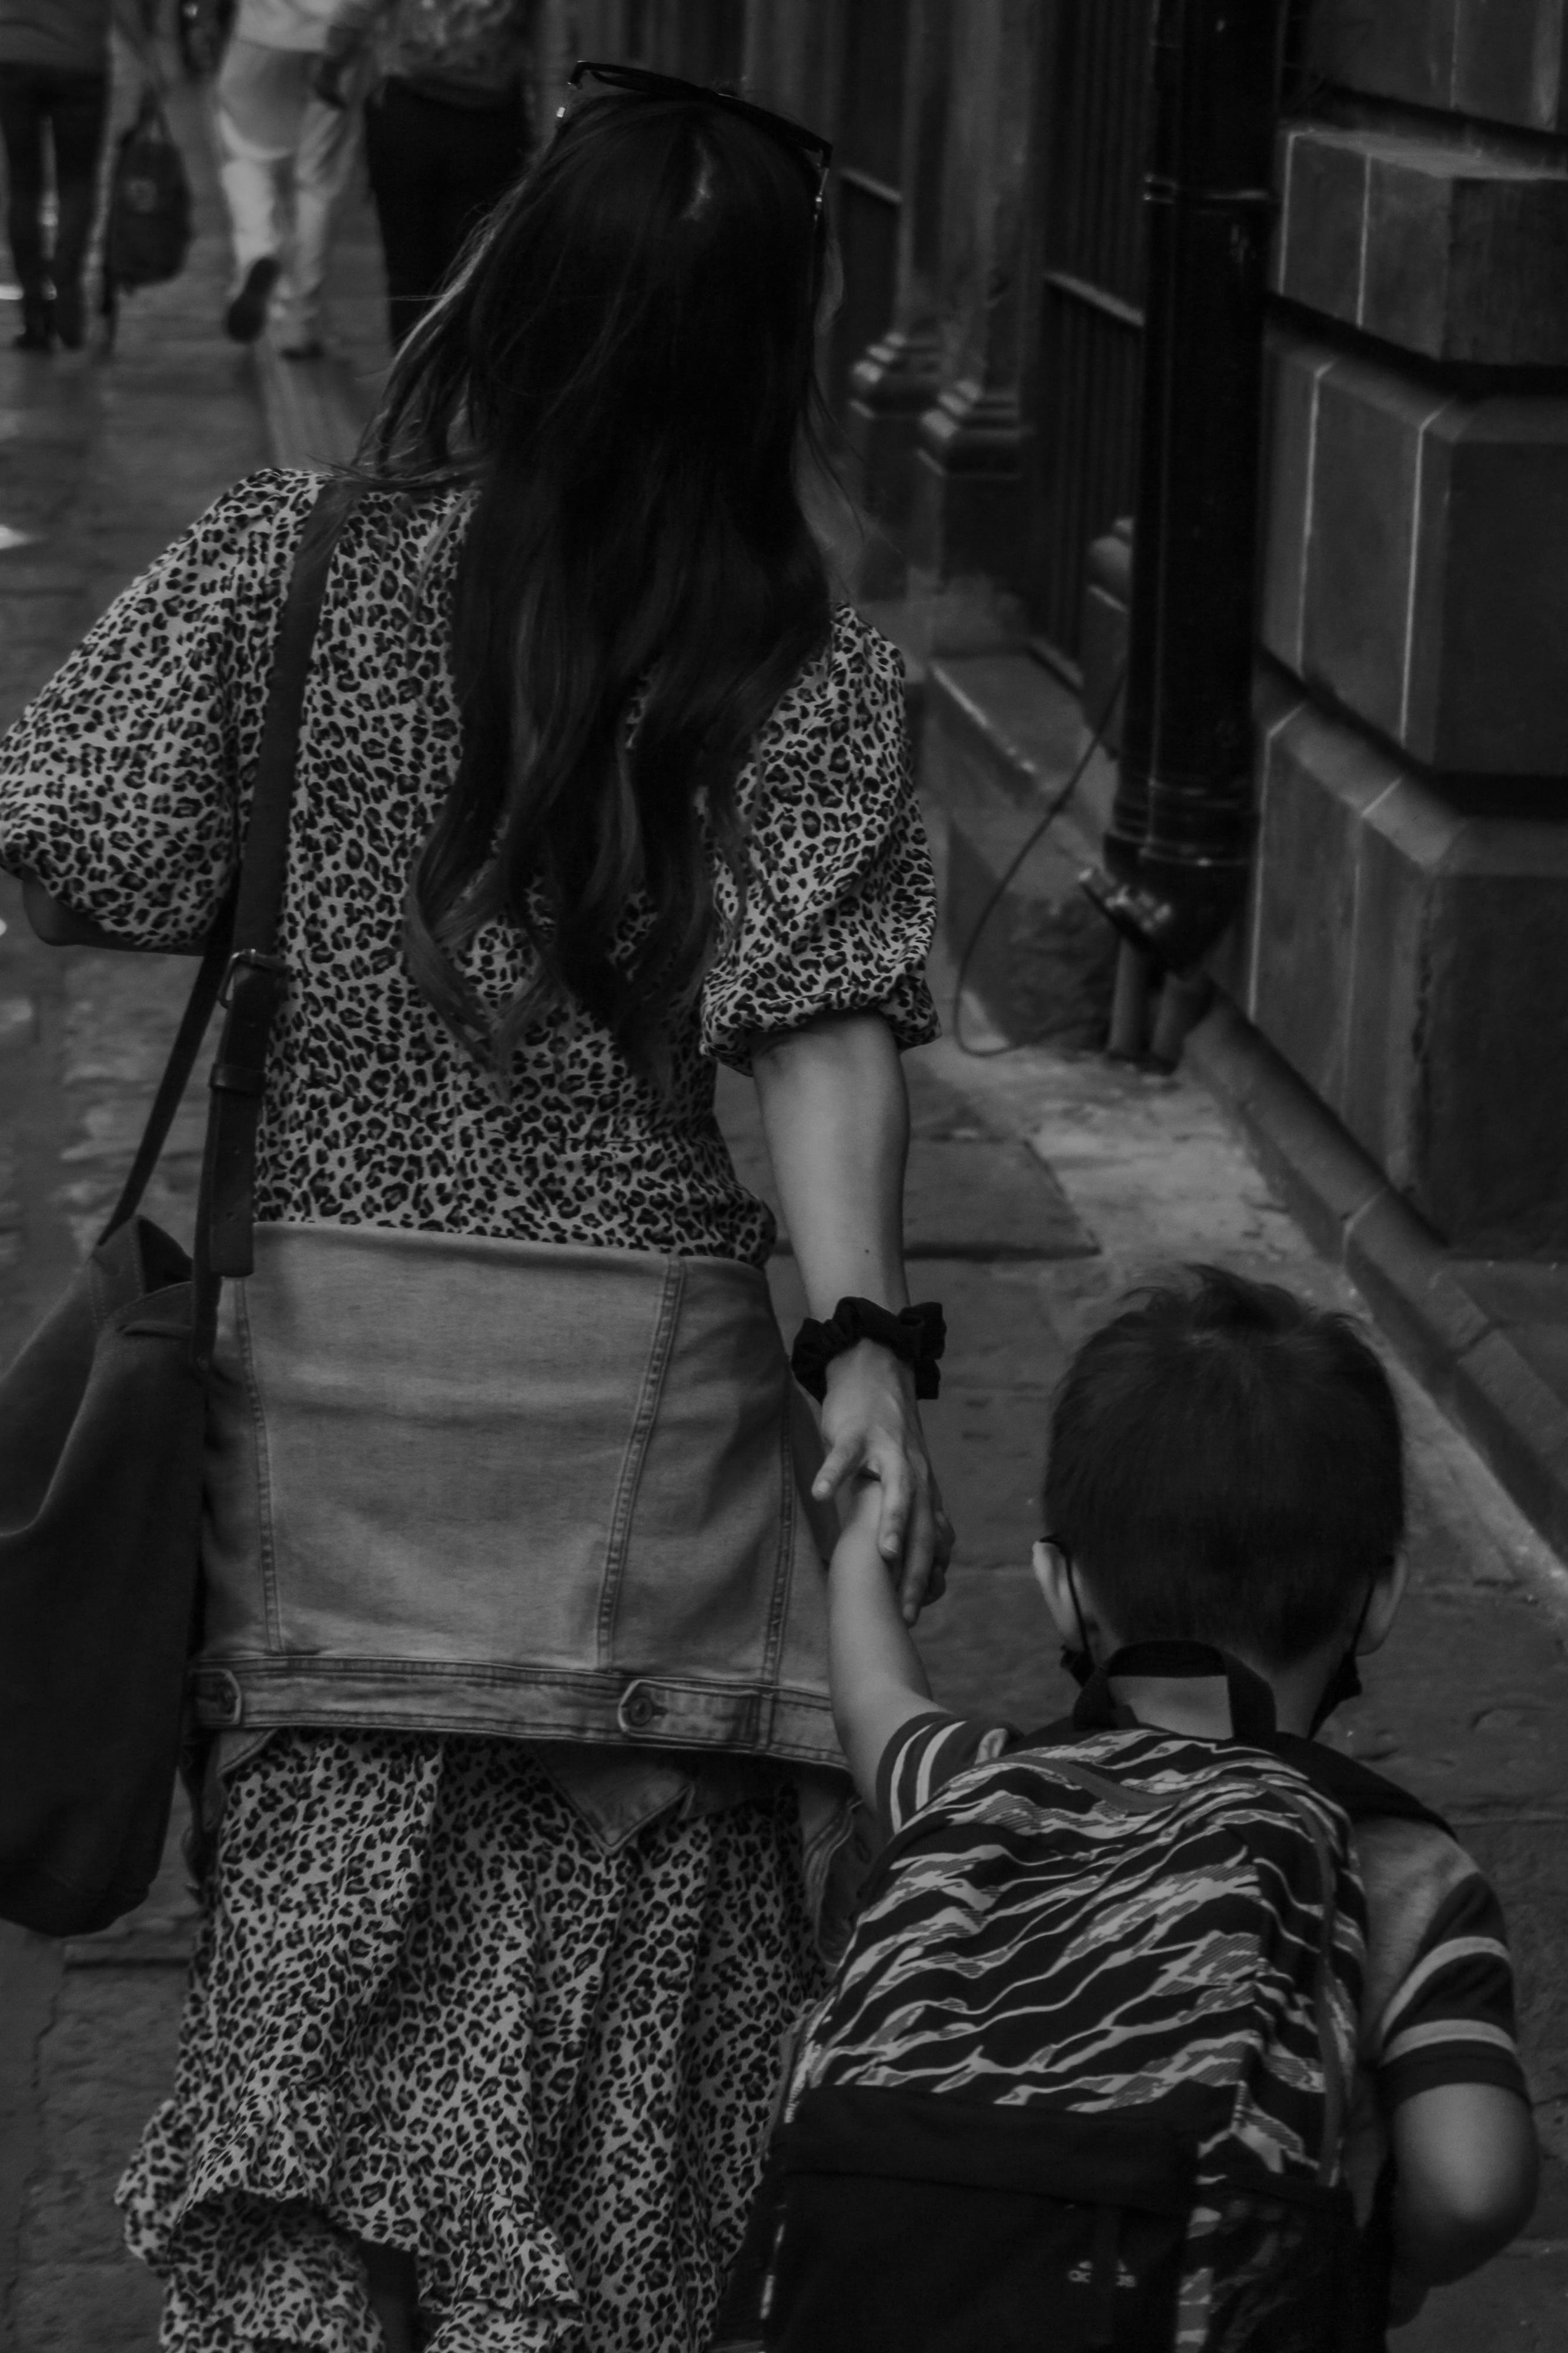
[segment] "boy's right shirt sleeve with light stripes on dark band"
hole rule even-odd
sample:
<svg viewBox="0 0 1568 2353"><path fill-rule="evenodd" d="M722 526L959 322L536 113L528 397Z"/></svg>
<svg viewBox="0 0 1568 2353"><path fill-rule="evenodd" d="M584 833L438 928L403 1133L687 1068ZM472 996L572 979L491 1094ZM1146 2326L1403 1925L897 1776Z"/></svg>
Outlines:
<svg viewBox="0 0 1568 2353"><path fill-rule="evenodd" d="M1441 2082L1495 2082L1530 2097L1502 1911L1469 1857L1453 1849L1453 1882L1371 2026L1366 2057L1387 2108Z"/></svg>

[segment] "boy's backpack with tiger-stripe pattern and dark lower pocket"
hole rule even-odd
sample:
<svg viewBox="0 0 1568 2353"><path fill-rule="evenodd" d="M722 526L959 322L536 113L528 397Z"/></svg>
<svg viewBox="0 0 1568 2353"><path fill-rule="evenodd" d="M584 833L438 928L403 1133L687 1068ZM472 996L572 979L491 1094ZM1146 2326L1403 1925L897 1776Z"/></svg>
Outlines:
<svg viewBox="0 0 1568 2353"><path fill-rule="evenodd" d="M1232 1668L1241 1725L1237 1678L1269 1694ZM736 2327L743 2257L717 2341L1382 2344L1340 2162L1366 1958L1349 1831L1434 1817L1272 1734L1272 1704L1248 1734L1117 1720L1091 1685L1072 1725L905 1824L797 2042L748 2235L757 2322Z"/></svg>

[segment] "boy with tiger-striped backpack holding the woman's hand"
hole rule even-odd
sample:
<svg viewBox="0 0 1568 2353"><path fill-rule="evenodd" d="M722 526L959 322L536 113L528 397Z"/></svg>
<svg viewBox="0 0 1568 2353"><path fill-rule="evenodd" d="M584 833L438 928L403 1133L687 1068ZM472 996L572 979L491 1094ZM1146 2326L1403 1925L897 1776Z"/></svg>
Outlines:
<svg viewBox="0 0 1568 2353"><path fill-rule="evenodd" d="M1349 1322L1197 1268L1058 1393L1034 1574L1084 1697L931 1706L877 1553L830 1572L891 1840L771 2167L769 2346L1382 2346L1535 2198L1502 1918L1321 1748L1399 1609L1403 1468Z"/></svg>

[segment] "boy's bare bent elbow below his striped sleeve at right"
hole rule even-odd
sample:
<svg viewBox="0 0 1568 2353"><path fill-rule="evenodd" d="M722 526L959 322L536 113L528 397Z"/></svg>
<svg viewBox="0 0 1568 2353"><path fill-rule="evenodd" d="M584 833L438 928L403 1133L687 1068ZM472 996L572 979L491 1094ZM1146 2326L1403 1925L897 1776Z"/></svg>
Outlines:
<svg viewBox="0 0 1568 2353"><path fill-rule="evenodd" d="M1535 2205L1535 2120L1497 2082L1439 2082L1401 2099L1394 2137L1394 2268L1420 2287L1462 2280L1523 2231Z"/></svg>

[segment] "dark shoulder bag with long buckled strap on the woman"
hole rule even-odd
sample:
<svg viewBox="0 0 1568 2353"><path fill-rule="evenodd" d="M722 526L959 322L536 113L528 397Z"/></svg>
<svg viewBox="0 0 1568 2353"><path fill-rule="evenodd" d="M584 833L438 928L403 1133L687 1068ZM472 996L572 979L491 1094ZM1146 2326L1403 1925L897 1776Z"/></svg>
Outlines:
<svg viewBox="0 0 1568 2353"><path fill-rule="evenodd" d="M299 753L331 548L357 485L301 536L235 894L207 944L113 1217L0 1377L0 1918L47 1937L146 1897L169 1826L197 1626L207 1374L223 1275L252 1266L252 1167ZM139 1217L212 1009L195 1257Z"/></svg>

